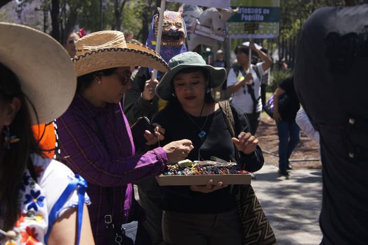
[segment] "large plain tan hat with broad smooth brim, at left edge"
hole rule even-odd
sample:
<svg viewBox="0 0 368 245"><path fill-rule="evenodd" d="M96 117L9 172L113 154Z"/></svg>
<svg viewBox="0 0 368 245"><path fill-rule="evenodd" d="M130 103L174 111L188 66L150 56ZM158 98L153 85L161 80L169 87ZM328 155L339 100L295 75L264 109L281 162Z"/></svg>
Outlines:
<svg viewBox="0 0 368 245"><path fill-rule="evenodd" d="M32 124L61 116L77 88L73 63L64 47L33 28L0 22L0 63L17 76L28 103Z"/></svg>

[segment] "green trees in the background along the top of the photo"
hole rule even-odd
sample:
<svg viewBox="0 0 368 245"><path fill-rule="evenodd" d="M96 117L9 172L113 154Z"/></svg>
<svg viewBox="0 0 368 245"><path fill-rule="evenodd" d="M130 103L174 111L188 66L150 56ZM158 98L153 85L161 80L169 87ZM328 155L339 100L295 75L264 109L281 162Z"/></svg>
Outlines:
<svg viewBox="0 0 368 245"><path fill-rule="evenodd" d="M348 1L348 0L347 0ZM357 4L368 3L368 0L354 0ZM0 7L9 0L1 1ZM101 30L102 4L102 30L128 30L134 34L134 38L145 42L148 36L152 16L157 13L156 8L160 0L17 0L18 11L26 8L32 2L40 2L40 9L48 9L51 18L47 18L46 26L59 33L58 39L64 39L67 33L84 28L87 33ZM57 5L56 9L52 6ZM166 9L176 11L180 3L166 2ZM343 6L343 0L281 0L280 13L280 38L256 40L269 50L285 50L288 52L295 44L303 23L308 16L317 8L324 6ZM1 9L0 18L6 20L7 10ZM35 12L35 16L41 12ZM48 17L48 16L47 16ZM8 21L12 21L9 19ZM52 25L52 22L55 22ZM27 23L25 23L27 24ZM42 25L40 25L42 30ZM53 31L53 35L55 31ZM287 45L283 42L289 40ZM232 46L239 45L245 40L233 39ZM283 46L284 47L281 47ZM282 57L287 56L286 50L281 52ZM292 59L291 59L292 60Z"/></svg>

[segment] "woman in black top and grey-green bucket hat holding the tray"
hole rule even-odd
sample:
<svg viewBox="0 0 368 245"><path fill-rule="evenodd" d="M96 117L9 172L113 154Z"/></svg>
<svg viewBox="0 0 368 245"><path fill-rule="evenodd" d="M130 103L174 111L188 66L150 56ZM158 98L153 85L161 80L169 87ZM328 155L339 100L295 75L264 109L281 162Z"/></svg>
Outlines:
<svg viewBox="0 0 368 245"><path fill-rule="evenodd" d="M153 118L166 130L162 143L182 137L190 139L194 149L187 159L192 161L215 156L236 162L236 145L241 155L240 168L245 164L246 170L260 169L264 162L262 151L258 139L249 133L246 116L236 106L230 106L237 135L232 138L226 115L210 93L211 88L221 86L226 70L206 65L194 52L174 56L169 67L170 72L156 88L160 99L169 103ZM212 180L206 186L163 188L165 244L242 244L235 189Z"/></svg>

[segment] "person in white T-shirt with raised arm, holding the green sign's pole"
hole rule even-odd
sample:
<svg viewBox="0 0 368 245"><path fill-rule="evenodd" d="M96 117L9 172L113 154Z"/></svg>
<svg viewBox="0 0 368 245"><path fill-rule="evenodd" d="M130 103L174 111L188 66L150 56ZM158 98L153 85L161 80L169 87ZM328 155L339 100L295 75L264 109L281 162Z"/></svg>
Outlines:
<svg viewBox="0 0 368 245"><path fill-rule="evenodd" d="M258 46L258 45L257 45ZM234 93L232 103L247 115L252 134L257 132L261 120L261 79L271 64L271 59L262 52L254 42L249 46L240 45L235 48L238 64L229 70L227 88ZM249 64L249 48L256 52L263 62Z"/></svg>

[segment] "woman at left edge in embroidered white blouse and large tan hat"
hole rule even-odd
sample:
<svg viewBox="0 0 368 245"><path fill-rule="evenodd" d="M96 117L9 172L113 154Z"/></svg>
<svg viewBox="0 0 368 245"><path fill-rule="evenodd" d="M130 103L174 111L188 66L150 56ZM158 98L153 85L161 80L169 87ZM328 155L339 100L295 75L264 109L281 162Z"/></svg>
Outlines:
<svg viewBox="0 0 368 245"><path fill-rule="evenodd" d="M0 22L0 33L0 243L75 244L78 237L94 244L87 208L82 220L74 208L78 195L79 207L89 198L74 188L63 194L77 176L41 157L31 128L60 116L72 102L77 80L70 57L32 28Z"/></svg>

